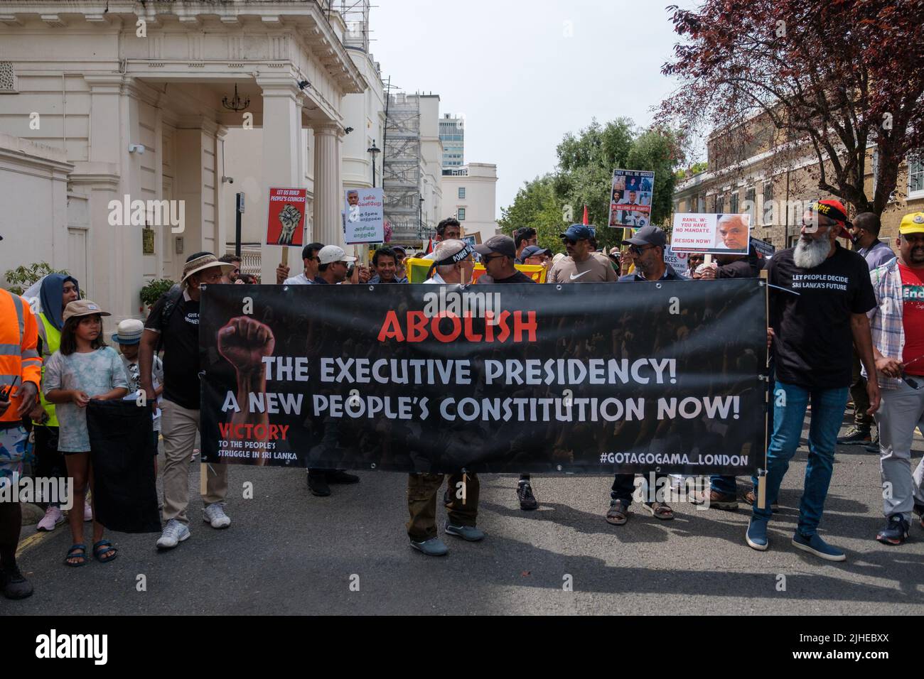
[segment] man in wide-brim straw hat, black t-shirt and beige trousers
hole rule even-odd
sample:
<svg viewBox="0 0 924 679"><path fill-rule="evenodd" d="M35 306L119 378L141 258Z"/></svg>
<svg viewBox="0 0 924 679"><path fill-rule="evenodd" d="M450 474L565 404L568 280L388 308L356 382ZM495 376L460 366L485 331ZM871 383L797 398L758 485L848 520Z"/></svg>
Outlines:
<svg viewBox="0 0 924 679"><path fill-rule="evenodd" d="M162 550L172 549L189 537L189 458L199 430L199 301L202 285L217 285L234 265L218 261L211 252L189 257L183 267L181 290L167 293L154 304L140 346L140 380L148 403L154 403L152 360L158 344L164 347L164 395L161 428L164 431L164 533L157 540ZM207 485L202 496L204 521L225 528L227 467L206 465Z"/></svg>

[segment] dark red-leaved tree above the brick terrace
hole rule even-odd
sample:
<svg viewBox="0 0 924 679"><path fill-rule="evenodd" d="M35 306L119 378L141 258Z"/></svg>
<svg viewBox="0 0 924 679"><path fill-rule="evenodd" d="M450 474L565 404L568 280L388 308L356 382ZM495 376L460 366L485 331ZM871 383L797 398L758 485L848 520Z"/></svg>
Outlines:
<svg viewBox="0 0 924 679"><path fill-rule="evenodd" d="M924 147L924 0L705 0L696 11L668 9L685 40L663 67L682 82L662 104L665 119L687 132L723 130L713 140L723 138L737 160L746 149L808 152L821 191L857 212L882 212L899 165ZM772 134L752 143L761 127ZM879 156L871 200L870 144Z"/></svg>

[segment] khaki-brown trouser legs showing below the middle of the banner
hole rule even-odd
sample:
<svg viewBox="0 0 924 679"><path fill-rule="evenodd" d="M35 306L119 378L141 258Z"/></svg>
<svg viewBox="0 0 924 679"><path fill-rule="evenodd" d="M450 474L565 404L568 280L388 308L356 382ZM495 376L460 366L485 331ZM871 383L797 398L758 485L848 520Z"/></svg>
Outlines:
<svg viewBox="0 0 924 679"><path fill-rule="evenodd" d="M443 474L407 475L407 536L415 542L436 537L436 493L443 485ZM450 523L456 526L475 526L478 518L478 494L480 481L477 474L465 475L465 499L462 494L463 474L449 475L444 495L446 513Z"/></svg>

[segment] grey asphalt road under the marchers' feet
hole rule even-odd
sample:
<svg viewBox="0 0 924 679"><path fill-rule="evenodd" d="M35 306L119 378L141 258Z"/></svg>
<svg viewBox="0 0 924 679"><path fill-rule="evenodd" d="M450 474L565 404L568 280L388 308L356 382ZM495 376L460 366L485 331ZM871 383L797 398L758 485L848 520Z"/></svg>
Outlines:
<svg viewBox="0 0 924 679"><path fill-rule="evenodd" d="M541 508L522 512L517 478L491 475L481 479L487 540L446 536L444 558L408 547L404 475L360 472L359 484L316 498L303 471L232 467L232 524L214 530L201 521L197 463L189 540L159 553L156 535L110 534L120 548L114 562L68 568L63 525L32 538L24 528L19 563L35 594L0 599L0 615L924 614L924 528L916 518L902 547L874 540L883 524L878 456L863 447L839 448L821 524L847 561L823 562L790 544L807 455L800 448L784 479L768 552L745 544L743 503L737 512L675 503L674 521L636 511L612 527L603 519L610 479L534 476ZM242 498L245 481L253 499ZM442 506L439 516L442 526Z"/></svg>

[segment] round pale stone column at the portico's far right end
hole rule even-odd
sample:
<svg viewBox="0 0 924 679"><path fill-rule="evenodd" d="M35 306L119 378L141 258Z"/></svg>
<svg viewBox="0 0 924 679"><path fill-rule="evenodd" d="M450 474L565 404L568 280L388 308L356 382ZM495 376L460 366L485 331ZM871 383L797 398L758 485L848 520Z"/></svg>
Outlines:
<svg viewBox="0 0 924 679"><path fill-rule="evenodd" d="M324 245L344 247L343 186L340 181L341 128L322 123L314 130L314 237Z"/></svg>

